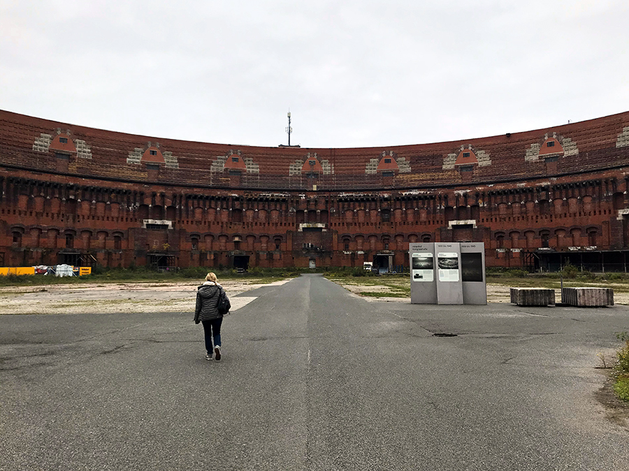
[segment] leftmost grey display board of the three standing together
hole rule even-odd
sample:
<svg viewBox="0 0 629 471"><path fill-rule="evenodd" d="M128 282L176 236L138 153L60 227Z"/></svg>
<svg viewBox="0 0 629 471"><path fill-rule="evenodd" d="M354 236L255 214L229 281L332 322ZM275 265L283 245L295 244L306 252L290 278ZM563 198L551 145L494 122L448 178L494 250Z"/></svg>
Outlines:
<svg viewBox="0 0 629 471"><path fill-rule="evenodd" d="M437 304L435 244L409 244L411 304Z"/></svg>

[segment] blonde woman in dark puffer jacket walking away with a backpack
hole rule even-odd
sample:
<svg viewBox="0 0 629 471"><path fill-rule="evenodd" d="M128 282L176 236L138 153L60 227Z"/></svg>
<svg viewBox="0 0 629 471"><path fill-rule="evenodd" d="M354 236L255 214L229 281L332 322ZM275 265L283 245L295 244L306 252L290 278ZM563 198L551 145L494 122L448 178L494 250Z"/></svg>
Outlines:
<svg viewBox="0 0 629 471"><path fill-rule="evenodd" d="M194 311L194 323L203 323L205 331L205 359L221 359L221 324L223 314L219 312L219 301L226 304L224 314L229 312L231 303L223 287L216 281L216 275L208 273L205 283L198 287L196 292L196 310ZM212 340L214 347L212 348Z"/></svg>

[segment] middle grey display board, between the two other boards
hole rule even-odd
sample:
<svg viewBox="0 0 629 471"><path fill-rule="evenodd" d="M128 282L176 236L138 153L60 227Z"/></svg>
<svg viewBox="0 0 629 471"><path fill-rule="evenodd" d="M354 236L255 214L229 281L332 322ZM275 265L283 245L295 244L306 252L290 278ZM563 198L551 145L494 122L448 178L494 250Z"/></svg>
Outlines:
<svg viewBox="0 0 629 471"><path fill-rule="evenodd" d="M435 243L437 304L463 304L461 246L458 242Z"/></svg>

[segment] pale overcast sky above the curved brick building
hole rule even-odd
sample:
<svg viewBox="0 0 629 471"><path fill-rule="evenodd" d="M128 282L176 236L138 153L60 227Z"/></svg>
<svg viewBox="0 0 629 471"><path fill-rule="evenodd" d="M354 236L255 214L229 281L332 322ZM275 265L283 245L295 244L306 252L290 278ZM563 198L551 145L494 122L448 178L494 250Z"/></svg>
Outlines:
<svg viewBox="0 0 629 471"><path fill-rule="evenodd" d="M0 109L152 137L386 147L629 110L629 1L0 0Z"/></svg>

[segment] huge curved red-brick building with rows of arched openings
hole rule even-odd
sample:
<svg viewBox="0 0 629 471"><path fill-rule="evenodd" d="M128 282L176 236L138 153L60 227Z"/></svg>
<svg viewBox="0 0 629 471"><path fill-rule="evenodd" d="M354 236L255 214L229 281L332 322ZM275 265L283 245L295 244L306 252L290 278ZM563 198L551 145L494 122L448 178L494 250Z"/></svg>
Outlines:
<svg viewBox="0 0 629 471"><path fill-rule="evenodd" d="M629 112L359 149L205 144L0 111L0 266L407 265L483 241L487 266L626 271Z"/></svg>

